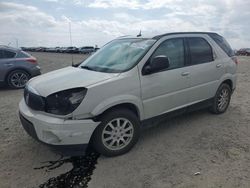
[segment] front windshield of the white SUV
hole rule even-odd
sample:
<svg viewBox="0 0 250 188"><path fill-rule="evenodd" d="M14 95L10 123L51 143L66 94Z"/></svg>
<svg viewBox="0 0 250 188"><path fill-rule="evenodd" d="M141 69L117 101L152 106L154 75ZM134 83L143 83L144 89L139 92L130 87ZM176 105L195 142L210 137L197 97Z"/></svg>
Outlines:
<svg viewBox="0 0 250 188"><path fill-rule="evenodd" d="M154 43L153 39L114 40L84 61L80 67L99 72L124 72L136 65Z"/></svg>

